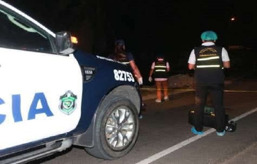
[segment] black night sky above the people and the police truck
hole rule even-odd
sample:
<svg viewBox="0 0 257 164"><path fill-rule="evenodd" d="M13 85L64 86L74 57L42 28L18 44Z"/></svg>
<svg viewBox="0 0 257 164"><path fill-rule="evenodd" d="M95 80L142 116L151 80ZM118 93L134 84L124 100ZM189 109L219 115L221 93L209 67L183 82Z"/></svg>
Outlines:
<svg viewBox="0 0 257 164"><path fill-rule="evenodd" d="M9 0L53 31L69 30L88 52L108 53L124 38L138 65L163 52L171 63L187 63L213 30L217 44L256 47L257 1L234 0ZM236 21L230 21L235 16ZM186 67L183 65L183 67ZM148 66L150 67L150 66ZM148 71L147 71L148 72Z"/></svg>

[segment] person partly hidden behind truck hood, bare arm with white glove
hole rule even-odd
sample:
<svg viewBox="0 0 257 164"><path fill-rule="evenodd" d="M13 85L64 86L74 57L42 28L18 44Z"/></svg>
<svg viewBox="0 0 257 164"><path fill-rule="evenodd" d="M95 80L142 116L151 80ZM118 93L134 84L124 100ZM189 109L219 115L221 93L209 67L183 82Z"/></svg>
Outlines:
<svg viewBox="0 0 257 164"><path fill-rule="evenodd" d="M138 69L138 66L135 63L132 53L125 51L125 41L123 39L115 40L114 52L110 54L108 58L128 65L132 69L133 74L135 75L139 85L143 85L142 75Z"/></svg>

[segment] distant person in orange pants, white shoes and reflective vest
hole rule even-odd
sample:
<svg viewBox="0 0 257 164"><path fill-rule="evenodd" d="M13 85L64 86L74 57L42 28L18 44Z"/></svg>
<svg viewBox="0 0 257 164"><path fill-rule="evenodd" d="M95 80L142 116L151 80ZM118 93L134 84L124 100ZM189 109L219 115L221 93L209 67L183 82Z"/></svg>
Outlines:
<svg viewBox="0 0 257 164"><path fill-rule="evenodd" d="M156 84L156 95L157 99L155 102L161 102L161 88L163 87L164 91L164 100L168 101L168 72L170 71L169 62L164 59L163 54L158 54L155 62L152 63L151 70L149 73L149 82L152 81L152 75L154 75L155 84Z"/></svg>

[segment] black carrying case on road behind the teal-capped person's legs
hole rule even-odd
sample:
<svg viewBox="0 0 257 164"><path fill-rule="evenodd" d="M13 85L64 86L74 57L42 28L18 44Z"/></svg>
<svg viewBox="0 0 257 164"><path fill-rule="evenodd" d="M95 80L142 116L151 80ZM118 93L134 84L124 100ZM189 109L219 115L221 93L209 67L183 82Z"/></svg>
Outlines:
<svg viewBox="0 0 257 164"><path fill-rule="evenodd" d="M229 116L226 114L226 124L228 124ZM188 112L188 123L191 125L194 125L194 110L191 109ZM210 127L210 128L216 128L216 122L215 122L215 114L214 114L214 108L210 106L204 107L204 116L203 116L203 126Z"/></svg>

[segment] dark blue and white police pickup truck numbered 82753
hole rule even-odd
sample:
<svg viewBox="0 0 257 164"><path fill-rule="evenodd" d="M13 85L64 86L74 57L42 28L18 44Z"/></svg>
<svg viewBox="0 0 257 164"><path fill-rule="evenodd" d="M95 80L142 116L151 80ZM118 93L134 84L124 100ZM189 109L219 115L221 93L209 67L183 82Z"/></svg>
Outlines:
<svg viewBox="0 0 257 164"><path fill-rule="evenodd" d="M75 51L0 0L0 163L26 163L82 146L102 159L124 156L139 131L141 97L130 69Z"/></svg>

